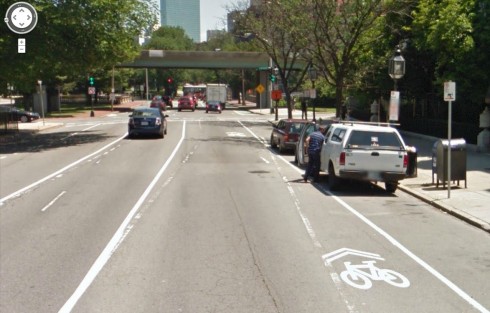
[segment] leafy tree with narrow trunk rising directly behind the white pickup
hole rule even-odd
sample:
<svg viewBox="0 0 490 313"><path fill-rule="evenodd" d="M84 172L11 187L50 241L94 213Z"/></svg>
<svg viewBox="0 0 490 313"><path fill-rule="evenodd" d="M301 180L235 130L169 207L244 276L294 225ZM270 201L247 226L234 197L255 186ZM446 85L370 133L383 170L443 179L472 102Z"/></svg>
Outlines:
<svg viewBox="0 0 490 313"><path fill-rule="evenodd" d="M369 58L381 39L381 20L393 9L391 5L383 0L311 0L311 22L304 24L304 36L311 40L308 51L314 64L336 90L337 117L346 86L363 72L367 61L363 58Z"/></svg>

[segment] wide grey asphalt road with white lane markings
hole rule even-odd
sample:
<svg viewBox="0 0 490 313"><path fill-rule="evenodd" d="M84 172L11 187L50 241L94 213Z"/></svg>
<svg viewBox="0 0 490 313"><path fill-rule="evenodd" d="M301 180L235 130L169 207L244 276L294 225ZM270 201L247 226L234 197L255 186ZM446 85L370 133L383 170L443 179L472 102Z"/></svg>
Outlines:
<svg viewBox="0 0 490 313"><path fill-rule="evenodd" d="M303 183L263 116L169 115L164 139L116 114L0 146L0 312L489 312L488 233Z"/></svg>

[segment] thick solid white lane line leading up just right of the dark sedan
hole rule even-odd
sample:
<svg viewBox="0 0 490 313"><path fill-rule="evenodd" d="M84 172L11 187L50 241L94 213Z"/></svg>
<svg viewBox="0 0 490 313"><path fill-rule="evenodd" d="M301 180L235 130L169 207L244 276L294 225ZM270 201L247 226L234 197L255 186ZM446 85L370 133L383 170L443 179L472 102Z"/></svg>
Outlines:
<svg viewBox="0 0 490 313"><path fill-rule="evenodd" d="M80 285L78 285L77 289L75 292L71 295L71 297L66 301L66 303L63 305L63 307L58 311L58 313L67 313L71 312L71 310L75 307L76 303L80 298L83 296L85 291L87 291L88 287L92 284L92 282L95 280L97 275L100 273L100 271L104 268L105 264L109 261L111 258L112 254L116 251L117 247L122 243L124 238L128 235L129 231L132 229L132 225L129 225L133 217L138 213L138 210L140 207L143 205L145 202L146 198L152 191L152 189L155 187L156 183L160 179L160 177L163 175L165 170L167 169L168 165L170 162L174 159L175 155L177 154L178 150L180 149L180 146L184 142L185 139L185 125L186 122L184 121L182 124L182 136L180 138L180 141L177 143L177 146L175 146L174 150L172 151L172 154L168 157L167 161L163 164L163 166L160 168L156 176L153 178L151 183L148 185L146 190L143 192L141 197L138 199L136 204L133 206L129 214L126 216L122 224L119 226L117 229L116 233L112 236L111 240L107 244L107 246L104 248L102 253L99 255L97 260L95 260L94 264L92 267L90 267L89 271L81 281ZM129 225L129 226L128 226Z"/></svg>

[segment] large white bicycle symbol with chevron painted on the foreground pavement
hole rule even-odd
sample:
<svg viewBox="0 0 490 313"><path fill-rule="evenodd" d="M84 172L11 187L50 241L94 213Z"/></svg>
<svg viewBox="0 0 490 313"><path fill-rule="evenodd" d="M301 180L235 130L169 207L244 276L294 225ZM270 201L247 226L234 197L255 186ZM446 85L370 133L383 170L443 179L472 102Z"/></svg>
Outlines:
<svg viewBox="0 0 490 313"><path fill-rule="evenodd" d="M358 255L377 260L384 260L380 255L363 252L353 249L339 249L323 256L325 265L346 255ZM410 281L402 274L390 269L375 266L375 260L362 261L361 264L344 262L346 270L340 273L340 278L347 284L358 289L369 289L373 286L373 281L384 281L399 288L407 288Z"/></svg>

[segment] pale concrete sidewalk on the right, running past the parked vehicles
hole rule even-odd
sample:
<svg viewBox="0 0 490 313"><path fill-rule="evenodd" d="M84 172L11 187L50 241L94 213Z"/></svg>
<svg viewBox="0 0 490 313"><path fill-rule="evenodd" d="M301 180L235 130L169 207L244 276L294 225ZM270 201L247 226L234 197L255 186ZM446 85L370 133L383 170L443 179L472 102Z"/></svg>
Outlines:
<svg viewBox="0 0 490 313"><path fill-rule="evenodd" d="M270 115L270 109L251 109L256 114ZM279 109L279 118L287 117L286 109ZM301 111L293 112L293 117L301 118ZM311 119L312 114L308 112ZM325 114L316 114L316 118L329 118ZM490 153L477 152L475 145L467 144L466 148L466 183L460 181L451 184L448 198L447 184L442 182L436 187L437 176L432 183L432 147L439 138L426 135L401 132L405 143L417 149L417 177L407 178L400 182L399 189L420 200L466 221L476 227L490 232Z"/></svg>

